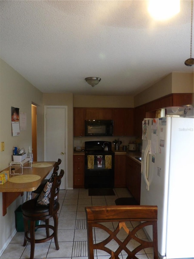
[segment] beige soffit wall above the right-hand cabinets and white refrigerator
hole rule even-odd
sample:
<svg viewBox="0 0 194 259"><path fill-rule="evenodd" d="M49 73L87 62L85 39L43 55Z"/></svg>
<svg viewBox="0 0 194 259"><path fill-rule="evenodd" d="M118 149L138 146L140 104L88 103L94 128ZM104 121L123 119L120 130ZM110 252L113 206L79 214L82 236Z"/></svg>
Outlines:
<svg viewBox="0 0 194 259"><path fill-rule="evenodd" d="M134 97L134 107L172 93L193 93L193 73L172 72Z"/></svg>

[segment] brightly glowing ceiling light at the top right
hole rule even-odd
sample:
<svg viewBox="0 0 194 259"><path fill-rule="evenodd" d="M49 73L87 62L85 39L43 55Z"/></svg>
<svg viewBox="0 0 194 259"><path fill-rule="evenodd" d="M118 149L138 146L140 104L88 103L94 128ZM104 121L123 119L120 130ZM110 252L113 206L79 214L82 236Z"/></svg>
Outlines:
<svg viewBox="0 0 194 259"><path fill-rule="evenodd" d="M180 12L180 0L149 0L148 12L155 20L166 20Z"/></svg>

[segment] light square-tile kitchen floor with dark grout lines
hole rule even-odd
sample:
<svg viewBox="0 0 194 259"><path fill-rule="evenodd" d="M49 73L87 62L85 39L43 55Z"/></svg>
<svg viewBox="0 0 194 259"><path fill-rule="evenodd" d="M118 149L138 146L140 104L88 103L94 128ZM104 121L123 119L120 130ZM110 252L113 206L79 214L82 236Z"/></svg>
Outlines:
<svg viewBox="0 0 194 259"><path fill-rule="evenodd" d="M86 206L115 205L115 199L130 197L126 188L115 188L115 196L89 196L88 189L60 190L59 194L59 250L55 249L54 240L42 244L35 244L35 259L43 257L58 259L88 259ZM52 222L52 220L50 220ZM44 230L36 231L41 238ZM122 233L121 233L122 234ZM144 234L144 233L142 233ZM102 233L96 233L96 240L100 240ZM0 259L27 259L30 256L30 244L23 247L24 232L17 232L8 244ZM122 254L122 259L127 257ZM95 259L107 259L109 256L99 253ZM150 250L142 251L139 259L152 259Z"/></svg>

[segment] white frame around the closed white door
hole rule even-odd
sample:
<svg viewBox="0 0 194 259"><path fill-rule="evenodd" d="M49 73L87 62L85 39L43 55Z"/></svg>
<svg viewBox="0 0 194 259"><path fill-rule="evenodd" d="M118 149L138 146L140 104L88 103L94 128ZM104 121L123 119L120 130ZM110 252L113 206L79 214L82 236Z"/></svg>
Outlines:
<svg viewBox="0 0 194 259"><path fill-rule="evenodd" d="M67 105L44 105L44 161L46 160L46 109L47 108L64 108L65 109L65 190L67 190L67 147L68 147L68 134L67 134Z"/></svg>

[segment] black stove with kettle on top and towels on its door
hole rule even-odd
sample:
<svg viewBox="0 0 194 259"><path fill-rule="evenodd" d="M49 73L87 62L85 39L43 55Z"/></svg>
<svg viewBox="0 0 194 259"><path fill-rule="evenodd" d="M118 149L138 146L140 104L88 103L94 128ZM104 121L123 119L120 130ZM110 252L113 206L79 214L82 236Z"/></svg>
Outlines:
<svg viewBox="0 0 194 259"><path fill-rule="evenodd" d="M114 187L114 157L110 141L85 141L85 188Z"/></svg>

